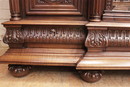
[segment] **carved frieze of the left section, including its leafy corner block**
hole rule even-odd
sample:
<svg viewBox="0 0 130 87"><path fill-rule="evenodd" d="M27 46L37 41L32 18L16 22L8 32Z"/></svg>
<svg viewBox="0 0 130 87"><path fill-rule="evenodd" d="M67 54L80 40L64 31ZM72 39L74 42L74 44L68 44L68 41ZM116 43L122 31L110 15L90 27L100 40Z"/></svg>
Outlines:
<svg viewBox="0 0 130 87"><path fill-rule="evenodd" d="M84 44L86 31L82 26L7 27L5 43Z"/></svg>

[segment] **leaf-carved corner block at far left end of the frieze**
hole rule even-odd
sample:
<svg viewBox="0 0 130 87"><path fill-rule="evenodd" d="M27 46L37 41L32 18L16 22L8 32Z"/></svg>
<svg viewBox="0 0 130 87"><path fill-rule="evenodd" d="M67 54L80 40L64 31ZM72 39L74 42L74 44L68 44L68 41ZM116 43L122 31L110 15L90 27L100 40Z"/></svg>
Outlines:
<svg viewBox="0 0 130 87"><path fill-rule="evenodd" d="M5 27L6 34L3 39L4 43L9 44L10 47L22 47L24 43L22 27L20 25L6 25Z"/></svg>

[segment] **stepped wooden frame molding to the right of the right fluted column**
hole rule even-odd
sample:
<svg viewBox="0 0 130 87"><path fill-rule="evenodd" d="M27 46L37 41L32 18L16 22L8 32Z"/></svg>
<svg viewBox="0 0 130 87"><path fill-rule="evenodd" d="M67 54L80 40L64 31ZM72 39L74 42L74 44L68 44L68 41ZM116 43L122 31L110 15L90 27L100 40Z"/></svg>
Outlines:
<svg viewBox="0 0 130 87"><path fill-rule="evenodd" d="M130 11L115 10L113 0L106 0L105 7L106 8L103 14L103 21L113 21L113 22L129 22L130 21ZM122 5L120 5L119 7L122 7Z"/></svg>

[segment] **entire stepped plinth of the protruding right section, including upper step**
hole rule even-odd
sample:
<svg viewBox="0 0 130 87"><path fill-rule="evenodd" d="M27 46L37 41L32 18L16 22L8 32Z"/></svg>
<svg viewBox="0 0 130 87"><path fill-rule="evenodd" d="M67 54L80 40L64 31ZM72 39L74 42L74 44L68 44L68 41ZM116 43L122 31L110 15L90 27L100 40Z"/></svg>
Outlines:
<svg viewBox="0 0 130 87"><path fill-rule="evenodd" d="M78 63L78 70L129 70L129 52L87 53Z"/></svg>

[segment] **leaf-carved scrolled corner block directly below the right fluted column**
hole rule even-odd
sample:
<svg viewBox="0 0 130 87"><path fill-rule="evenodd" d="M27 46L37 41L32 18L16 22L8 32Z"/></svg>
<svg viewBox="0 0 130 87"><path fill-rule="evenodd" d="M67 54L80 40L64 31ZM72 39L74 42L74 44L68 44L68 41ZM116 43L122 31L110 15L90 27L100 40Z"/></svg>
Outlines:
<svg viewBox="0 0 130 87"><path fill-rule="evenodd" d="M85 41L88 51L103 51L107 45L107 28L88 27L88 36Z"/></svg>

